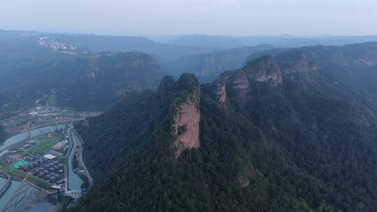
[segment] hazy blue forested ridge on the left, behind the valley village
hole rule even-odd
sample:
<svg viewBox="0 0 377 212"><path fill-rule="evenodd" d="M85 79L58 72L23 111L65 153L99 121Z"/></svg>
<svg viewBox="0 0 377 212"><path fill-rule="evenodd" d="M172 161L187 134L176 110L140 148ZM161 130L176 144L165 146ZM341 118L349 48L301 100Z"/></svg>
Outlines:
<svg viewBox="0 0 377 212"><path fill-rule="evenodd" d="M57 106L103 109L128 91L156 89L164 75L142 52L85 52L13 36L0 40L0 112L45 104L50 96Z"/></svg>

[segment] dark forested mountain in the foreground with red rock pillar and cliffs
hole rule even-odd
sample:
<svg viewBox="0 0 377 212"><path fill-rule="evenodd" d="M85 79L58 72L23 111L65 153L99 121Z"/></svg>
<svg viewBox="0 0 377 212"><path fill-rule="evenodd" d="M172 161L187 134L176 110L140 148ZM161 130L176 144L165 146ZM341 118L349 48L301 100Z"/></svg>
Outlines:
<svg viewBox="0 0 377 212"><path fill-rule="evenodd" d="M364 43L165 78L77 126L110 162L73 211L376 211L376 70Z"/></svg>

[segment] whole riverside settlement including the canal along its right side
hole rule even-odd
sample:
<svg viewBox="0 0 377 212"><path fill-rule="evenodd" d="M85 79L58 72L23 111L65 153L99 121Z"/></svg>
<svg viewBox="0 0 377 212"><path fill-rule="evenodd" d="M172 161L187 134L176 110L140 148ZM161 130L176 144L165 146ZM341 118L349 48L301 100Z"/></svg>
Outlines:
<svg viewBox="0 0 377 212"><path fill-rule="evenodd" d="M25 138L21 141L0 148L1 174L8 176L9 182L25 181L50 195L60 192L79 199L92 180L82 162L82 141L72 123L46 126L23 134ZM7 186L0 192L6 192Z"/></svg>

